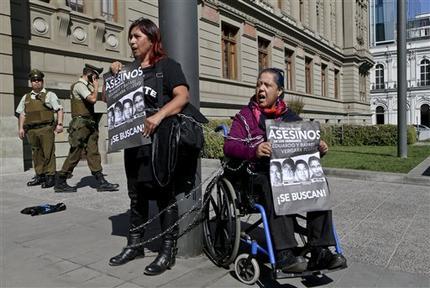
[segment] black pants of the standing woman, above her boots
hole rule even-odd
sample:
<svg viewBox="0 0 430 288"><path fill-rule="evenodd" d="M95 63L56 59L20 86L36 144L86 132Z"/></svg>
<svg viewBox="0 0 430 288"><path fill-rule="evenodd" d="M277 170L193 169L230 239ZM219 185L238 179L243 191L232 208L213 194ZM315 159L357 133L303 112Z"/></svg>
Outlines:
<svg viewBox="0 0 430 288"><path fill-rule="evenodd" d="M127 179L128 196L130 197L130 233L143 237L144 229L134 230L148 221L149 200L156 200L159 211L176 202L174 189L171 185L159 187L153 182L138 182ZM160 215L161 232L166 231L178 221L178 206L173 205ZM176 240L179 226L175 226L164 235L163 239Z"/></svg>

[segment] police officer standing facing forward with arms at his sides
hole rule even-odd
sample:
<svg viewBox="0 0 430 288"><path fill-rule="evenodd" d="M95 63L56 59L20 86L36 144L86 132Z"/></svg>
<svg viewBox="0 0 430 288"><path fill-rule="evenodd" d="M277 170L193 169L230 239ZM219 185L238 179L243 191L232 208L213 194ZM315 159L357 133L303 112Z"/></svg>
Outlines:
<svg viewBox="0 0 430 288"><path fill-rule="evenodd" d="M57 95L43 88L44 76L38 69L31 70L28 77L32 90L21 98L16 113L19 114L19 138L24 139L27 135L36 172L27 186L42 184L42 188L49 188L55 184L54 132L63 132L64 114Z"/></svg>

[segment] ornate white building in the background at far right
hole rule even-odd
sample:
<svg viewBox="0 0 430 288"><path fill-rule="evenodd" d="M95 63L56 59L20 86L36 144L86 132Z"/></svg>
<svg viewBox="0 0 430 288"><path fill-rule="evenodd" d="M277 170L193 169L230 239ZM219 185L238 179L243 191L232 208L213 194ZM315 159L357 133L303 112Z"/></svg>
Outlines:
<svg viewBox="0 0 430 288"><path fill-rule="evenodd" d="M412 3L412 2L410 2ZM371 1L370 108L372 124L397 124L397 43L392 23L385 15L392 1ZM384 6L386 4L386 6ZM414 8L408 5L410 9ZM395 8L395 7L394 7ZM414 10L415 11L415 10ZM379 17L379 18L378 18ZM385 28L390 26L391 28ZM418 14L407 24L407 124L430 125L430 14Z"/></svg>

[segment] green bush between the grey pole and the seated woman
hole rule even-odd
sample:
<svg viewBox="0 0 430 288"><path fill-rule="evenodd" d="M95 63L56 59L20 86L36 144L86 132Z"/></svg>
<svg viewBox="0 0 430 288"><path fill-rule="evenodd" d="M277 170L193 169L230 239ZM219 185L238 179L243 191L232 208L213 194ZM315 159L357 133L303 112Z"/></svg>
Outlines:
<svg viewBox="0 0 430 288"><path fill-rule="evenodd" d="M231 122L231 119L217 119L209 120L209 123L204 125L205 146L203 147L202 158L219 159L224 156L222 131L215 132L214 130L221 124L227 125L230 129Z"/></svg>

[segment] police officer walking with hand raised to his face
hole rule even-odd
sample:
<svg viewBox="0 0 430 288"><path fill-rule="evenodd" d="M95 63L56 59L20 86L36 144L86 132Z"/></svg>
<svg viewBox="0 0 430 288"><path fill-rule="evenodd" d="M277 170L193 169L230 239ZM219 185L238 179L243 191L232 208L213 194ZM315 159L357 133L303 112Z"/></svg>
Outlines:
<svg viewBox="0 0 430 288"><path fill-rule="evenodd" d="M97 191L117 191L119 185L111 184L103 176L101 157L98 149L98 122L94 113L97 101L99 75L103 68L85 64L82 76L71 86L72 121L69 125L70 150L55 183L55 192L76 192L76 187L69 186L66 179L86 152L88 167L99 184Z"/></svg>

